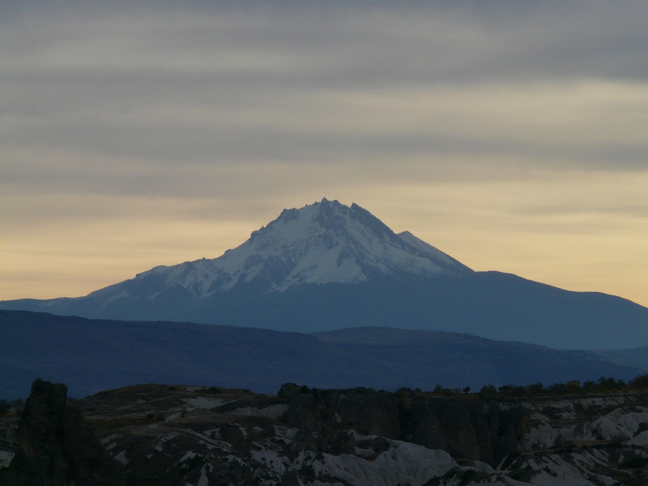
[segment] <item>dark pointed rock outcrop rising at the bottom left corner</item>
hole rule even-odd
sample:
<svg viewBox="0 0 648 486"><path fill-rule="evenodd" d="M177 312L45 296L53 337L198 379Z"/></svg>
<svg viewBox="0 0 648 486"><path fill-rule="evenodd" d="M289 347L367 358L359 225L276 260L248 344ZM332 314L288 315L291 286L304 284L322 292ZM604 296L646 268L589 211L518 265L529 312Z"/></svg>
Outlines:
<svg viewBox="0 0 648 486"><path fill-rule="evenodd" d="M29 486L125 485L120 465L106 453L79 410L67 404L67 386L36 380L18 421L19 448L10 483Z"/></svg>

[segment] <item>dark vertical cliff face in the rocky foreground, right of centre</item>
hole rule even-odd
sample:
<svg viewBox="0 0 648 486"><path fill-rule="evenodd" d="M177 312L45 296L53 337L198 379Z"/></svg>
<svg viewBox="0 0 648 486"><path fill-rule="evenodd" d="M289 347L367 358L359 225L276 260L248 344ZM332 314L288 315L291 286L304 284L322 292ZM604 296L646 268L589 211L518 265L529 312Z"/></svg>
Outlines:
<svg viewBox="0 0 648 486"><path fill-rule="evenodd" d="M450 456L497 465L524 443L524 408L496 402L404 395L356 388L302 390L284 385L286 424L329 452L346 430L406 441Z"/></svg>

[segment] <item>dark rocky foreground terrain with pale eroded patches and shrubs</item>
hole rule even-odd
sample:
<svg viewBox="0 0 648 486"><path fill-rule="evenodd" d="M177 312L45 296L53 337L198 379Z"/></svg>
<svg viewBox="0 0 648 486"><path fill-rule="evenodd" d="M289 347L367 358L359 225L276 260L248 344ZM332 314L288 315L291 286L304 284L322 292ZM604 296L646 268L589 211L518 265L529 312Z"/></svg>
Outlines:
<svg viewBox="0 0 648 486"><path fill-rule="evenodd" d="M17 428L1 422L0 454L13 459L0 484L648 484L645 391L485 399L150 384L81 400L66 391L37 380Z"/></svg>

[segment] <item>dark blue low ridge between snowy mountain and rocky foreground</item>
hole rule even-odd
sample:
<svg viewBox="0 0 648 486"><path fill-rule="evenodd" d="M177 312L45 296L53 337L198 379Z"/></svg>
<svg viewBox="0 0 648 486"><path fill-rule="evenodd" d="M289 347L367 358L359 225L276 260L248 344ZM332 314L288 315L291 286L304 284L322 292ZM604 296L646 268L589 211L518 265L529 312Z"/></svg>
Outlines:
<svg viewBox="0 0 648 486"><path fill-rule="evenodd" d="M78 397L129 384L191 383L274 392L433 389L632 378L641 371L591 353L429 330L356 328L318 334L174 322L128 322L0 310L0 398L36 378Z"/></svg>

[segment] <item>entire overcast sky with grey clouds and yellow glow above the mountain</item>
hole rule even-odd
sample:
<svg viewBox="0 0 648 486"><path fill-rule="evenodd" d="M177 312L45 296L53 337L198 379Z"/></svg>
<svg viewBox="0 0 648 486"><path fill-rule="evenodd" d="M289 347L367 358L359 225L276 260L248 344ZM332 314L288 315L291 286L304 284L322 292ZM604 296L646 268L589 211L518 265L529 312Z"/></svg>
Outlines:
<svg viewBox="0 0 648 486"><path fill-rule="evenodd" d="M358 203L648 305L648 2L0 4L0 299Z"/></svg>

